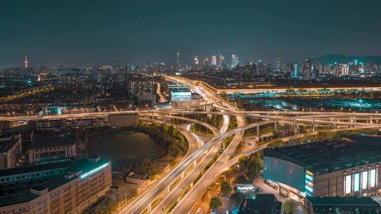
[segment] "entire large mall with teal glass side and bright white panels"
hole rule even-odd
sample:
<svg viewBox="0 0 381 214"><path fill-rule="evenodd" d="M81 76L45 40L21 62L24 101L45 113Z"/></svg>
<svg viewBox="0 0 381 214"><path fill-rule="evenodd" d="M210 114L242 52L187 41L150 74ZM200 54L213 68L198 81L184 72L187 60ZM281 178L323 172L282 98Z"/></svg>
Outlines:
<svg viewBox="0 0 381 214"><path fill-rule="evenodd" d="M306 196L380 193L381 138L353 135L350 139L265 148L263 178L280 194L297 201Z"/></svg>

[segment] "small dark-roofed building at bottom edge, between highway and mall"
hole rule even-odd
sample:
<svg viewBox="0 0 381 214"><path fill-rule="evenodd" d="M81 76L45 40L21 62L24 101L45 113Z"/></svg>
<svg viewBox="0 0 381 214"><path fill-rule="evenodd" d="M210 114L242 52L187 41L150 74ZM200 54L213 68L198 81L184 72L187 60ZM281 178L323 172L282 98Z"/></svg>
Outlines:
<svg viewBox="0 0 381 214"><path fill-rule="evenodd" d="M238 213L240 214L278 214L281 213L282 202L274 194L257 194L253 198L243 199Z"/></svg>

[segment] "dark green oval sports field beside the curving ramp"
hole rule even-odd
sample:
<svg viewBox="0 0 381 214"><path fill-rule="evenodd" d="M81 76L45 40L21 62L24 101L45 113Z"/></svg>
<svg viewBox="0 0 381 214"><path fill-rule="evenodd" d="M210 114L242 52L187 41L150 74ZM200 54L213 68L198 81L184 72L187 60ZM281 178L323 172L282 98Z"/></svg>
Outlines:
<svg viewBox="0 0 381 214"><path fill-rule="evenodd" d="M110 131L98 133L88 140L89 155L99 154L108 158L112 166L128 166L148 157L161 157L166 149L147 134L134 131Z"/></svg>

